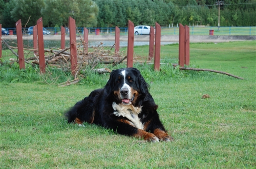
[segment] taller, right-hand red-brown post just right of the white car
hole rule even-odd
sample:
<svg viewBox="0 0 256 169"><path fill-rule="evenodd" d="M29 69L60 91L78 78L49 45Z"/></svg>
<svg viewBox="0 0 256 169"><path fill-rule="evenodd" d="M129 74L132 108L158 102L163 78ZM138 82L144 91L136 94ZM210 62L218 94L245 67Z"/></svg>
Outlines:
<svg viewBox="0 0 256 169"><path fill-rule="evenodd" d="M156 22L154 69L160 69L161 26Z"/></svg>

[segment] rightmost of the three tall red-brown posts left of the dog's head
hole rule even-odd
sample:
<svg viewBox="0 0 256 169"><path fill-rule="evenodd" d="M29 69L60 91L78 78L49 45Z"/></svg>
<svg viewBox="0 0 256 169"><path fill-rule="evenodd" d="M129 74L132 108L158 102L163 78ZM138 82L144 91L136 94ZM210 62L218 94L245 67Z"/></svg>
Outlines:
<svg viewBox="0 0 256 169"><path fill-rule="evenodd" d="M70 36L71 73L73 76L75 76L76 66L77 66L76 21L72 17L69 17L69 36Z"/></svg>

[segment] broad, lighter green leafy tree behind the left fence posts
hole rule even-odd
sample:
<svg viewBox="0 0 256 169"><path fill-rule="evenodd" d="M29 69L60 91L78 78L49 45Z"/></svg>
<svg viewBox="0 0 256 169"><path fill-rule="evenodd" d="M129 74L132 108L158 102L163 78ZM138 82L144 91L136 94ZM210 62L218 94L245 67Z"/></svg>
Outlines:
<svg viewBox="0 0 256 169"><path fill-rule="evenodd" d="M76 20L76 26L93 27L97 25L98 7L92 0L58 1L46 0L42 9L44 24L48 26L68 26L69 16Z"/></svg>

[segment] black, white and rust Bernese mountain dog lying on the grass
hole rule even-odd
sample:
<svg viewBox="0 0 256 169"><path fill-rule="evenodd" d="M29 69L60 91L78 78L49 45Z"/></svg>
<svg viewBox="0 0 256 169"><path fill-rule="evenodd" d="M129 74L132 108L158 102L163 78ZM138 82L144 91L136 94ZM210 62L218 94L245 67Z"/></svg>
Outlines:
<svg viewBox="0 0 256 169"><path fill-rule="evenodd" d="M69 123L87 122L149 142L172 141L159 120L153 97L136 68L113 70L103 89L77 102L65 116Z"/></svg>

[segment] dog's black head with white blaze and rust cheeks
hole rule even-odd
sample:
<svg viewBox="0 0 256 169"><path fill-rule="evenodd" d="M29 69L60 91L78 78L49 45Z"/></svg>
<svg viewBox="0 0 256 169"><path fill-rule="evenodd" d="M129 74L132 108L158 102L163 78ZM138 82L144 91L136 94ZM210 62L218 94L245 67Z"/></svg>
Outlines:
<svg viewBox="0 0 256 169"><path fill-rule="evenodd" d="M106 92L125 105L135 104L141 94L148 93L148 88L149 85L136 68L113 70L105 86Z"/></svg>

